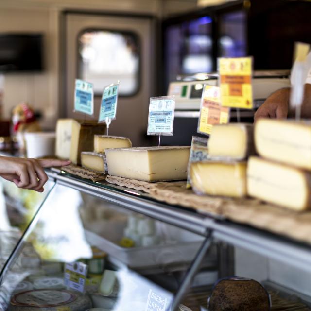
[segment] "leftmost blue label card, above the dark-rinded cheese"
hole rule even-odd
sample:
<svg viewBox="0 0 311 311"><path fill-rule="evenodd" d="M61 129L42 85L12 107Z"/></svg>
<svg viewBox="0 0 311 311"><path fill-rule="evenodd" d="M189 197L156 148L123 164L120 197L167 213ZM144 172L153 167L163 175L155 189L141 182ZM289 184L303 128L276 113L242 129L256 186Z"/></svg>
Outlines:
<svg viewBox="0 0 311 311"><path fill-rule="evenodd" d="M74 111L91 116L94 114L94 92L91 83L76 79L74 88Z"/></svg>

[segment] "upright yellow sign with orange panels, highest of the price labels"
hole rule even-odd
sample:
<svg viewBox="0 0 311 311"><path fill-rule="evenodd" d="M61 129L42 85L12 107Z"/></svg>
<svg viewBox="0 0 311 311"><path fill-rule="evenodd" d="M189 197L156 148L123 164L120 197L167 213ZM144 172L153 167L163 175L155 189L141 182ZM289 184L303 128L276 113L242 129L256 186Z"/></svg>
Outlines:
<svg viewBox="0 0 311 311"><path fill-rule="evenodd" d="M252 64L252 57L218 58L222 106L253 108Z"/></svg>

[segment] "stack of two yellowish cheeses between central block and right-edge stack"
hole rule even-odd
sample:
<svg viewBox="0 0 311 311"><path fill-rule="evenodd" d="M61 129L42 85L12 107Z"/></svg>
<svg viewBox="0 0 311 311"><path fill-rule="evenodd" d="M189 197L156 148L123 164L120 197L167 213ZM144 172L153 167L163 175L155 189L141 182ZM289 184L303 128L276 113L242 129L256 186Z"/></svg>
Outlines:
<svg viewBox="0 0 311 311"><path fill-rule="evenodd" d="M190 164L190 183L198 194L244 197L247 157L254 153L253 125L214 125L208 141L210 160Z"/></svg>

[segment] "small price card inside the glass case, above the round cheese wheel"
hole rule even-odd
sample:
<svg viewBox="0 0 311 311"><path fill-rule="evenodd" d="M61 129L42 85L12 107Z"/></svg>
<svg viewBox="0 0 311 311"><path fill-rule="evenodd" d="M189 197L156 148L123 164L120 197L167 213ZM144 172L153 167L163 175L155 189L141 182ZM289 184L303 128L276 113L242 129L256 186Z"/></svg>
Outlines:
<svg viewBox="0 0 311 311"><path fill-rule="evenodd" d="M65 285L68 289L84 292L86 284L87 265L82 262L72 262L65 264Z"/></svg>

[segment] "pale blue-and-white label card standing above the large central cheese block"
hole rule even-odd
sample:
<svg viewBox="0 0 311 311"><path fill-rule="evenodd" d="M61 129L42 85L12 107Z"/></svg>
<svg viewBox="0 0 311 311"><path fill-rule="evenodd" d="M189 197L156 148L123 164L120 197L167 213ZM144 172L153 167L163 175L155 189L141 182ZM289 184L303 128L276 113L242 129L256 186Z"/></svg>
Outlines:
<svg viewBox="0 0 311 311"><path fill-rule="evenodd" d="M150 98L147 135L173 135L175 98Z"/></svg>

